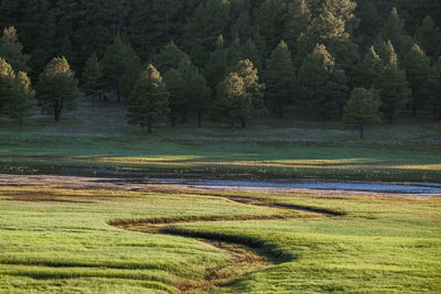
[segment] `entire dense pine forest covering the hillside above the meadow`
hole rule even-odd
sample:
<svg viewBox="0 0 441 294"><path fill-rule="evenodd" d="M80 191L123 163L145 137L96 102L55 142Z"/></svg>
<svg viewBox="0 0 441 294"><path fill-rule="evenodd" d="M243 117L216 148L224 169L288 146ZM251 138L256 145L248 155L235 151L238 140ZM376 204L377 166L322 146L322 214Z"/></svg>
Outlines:
<svg viewBox="0 0 441 294"><path fill-rule="evenodd" d="M438 0L2 0L0 110L90 99L148 127L441 119ZM34 102L35 101L35 102Z"/></svg>

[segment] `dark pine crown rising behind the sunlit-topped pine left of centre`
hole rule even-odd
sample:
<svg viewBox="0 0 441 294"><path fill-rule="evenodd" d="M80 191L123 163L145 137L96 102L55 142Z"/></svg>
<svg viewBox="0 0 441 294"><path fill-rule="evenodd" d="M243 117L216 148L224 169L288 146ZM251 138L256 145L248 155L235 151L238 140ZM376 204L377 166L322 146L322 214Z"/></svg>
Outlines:
<svg viewBox="0 0 441 294"><path fill-rule="evenodd" d="M190 56L178 47L173 41L166 44L161 52L152 56L152 63L160 73L178 68L181 61L190 61Z"/></svg>

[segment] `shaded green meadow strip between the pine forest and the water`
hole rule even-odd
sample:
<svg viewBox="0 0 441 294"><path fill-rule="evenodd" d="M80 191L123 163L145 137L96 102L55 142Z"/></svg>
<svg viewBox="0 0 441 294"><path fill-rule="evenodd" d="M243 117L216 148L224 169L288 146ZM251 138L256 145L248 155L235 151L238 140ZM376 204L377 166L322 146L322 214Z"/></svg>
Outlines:
<svg viewBox="0 0 441 294"><path fill-rule="evenodd" d="M266 120L232 132L223 124L161 127L148 135L125 122L122 106L84 102L61 124L35 117L24 132L3 120L0 172L325 177L441 183L441 126L402 120L374 126L361 141L335 122Z"/></svg>

